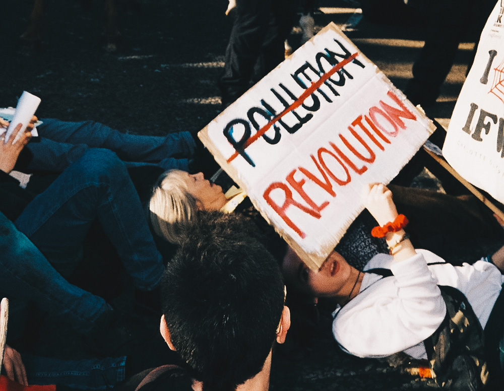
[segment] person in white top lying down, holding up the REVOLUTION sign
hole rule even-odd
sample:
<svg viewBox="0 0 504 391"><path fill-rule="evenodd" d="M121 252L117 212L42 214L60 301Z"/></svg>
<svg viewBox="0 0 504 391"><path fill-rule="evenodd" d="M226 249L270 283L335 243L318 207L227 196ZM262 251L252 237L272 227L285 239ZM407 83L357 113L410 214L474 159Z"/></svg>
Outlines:
<svg viewBox="0 0 504 391"><path fill-rule="evenodd" d="M379 226L398 221L392 193L383 184L369 186L364 205ZM391 254L375 255L363 272L336 251L318 272L308 269L291 249L284 257L289 290L334 300L332 331L343 350L358 357L405 352L415 359L427 358L423 341L438 329L447 311L438 285L461 291L485 328L504 283L499 270L502 249L492 259L453 266L429 251L415 250L404 224L383 234ZM393 276L374 274L376 268L390 269ZM498 350L498 346L491 349Z"/></svg>

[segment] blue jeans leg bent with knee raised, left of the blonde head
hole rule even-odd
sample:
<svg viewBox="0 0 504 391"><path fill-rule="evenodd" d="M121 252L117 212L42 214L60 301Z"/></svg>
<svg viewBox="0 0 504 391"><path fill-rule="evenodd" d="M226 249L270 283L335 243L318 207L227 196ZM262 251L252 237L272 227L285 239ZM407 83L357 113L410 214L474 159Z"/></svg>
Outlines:
<svg viewBox="0 0 504 391"><path fill-rule="evenodd" d="M71 164L26 207L15 224L51 265L68 276L97 218L141 290L154 289L164 271L140 199L115 153L93 148Z"/></svg>

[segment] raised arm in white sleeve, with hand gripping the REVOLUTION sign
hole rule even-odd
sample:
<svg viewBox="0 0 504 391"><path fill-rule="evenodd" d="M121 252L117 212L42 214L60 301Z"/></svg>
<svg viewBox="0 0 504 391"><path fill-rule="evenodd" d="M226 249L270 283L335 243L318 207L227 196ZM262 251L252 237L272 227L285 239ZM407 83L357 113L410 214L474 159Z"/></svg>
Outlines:
<svg viewBox="0 0 504 391"><path fill-rule="evenodd" d="M369 185L366 190L364 205L378 224L393 222L398 213L390 190L383 184ZM390 268L394 276L376 278L341 309L333 322L334 337L353 355L384 357L406 351L420 358L425 350L418 344L445 317L445 302L424 253L417 253L404 235L404 229L400 229L385 236L392 247ZM429 256L442 261L434 254ZM385 260L377 264L389 266Z"/></svg>

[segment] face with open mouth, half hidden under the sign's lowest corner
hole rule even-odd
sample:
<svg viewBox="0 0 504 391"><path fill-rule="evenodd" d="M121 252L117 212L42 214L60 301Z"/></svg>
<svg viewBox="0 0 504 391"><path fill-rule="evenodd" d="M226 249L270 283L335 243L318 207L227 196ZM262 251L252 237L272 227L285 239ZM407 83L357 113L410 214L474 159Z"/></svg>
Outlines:
<svg viewBox="0 0 504 391"><path fill-rule="evenodd" d="M282 271L289 286L301 293L315 297L338 297L351 275L352 267L339 253L333 251L321 269L314 272L288 247Z"/></svg>

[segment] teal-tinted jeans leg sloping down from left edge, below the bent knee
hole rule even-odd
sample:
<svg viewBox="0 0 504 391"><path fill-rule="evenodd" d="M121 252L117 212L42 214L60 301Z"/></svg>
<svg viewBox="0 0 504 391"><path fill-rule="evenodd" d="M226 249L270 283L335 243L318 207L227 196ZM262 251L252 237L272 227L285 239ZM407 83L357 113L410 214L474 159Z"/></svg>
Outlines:
<svg viewBox="0 0 504 391"><path fill-rule="evenodd" d="M110 306L98 296L70 284L14 224L0 214L0 294L10 301L10 331L19 330L29 301L74 330L86 334ZM17 337L12 332L9 337Z"/></svg>

